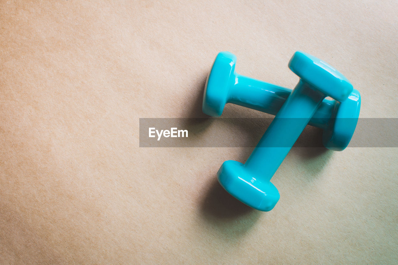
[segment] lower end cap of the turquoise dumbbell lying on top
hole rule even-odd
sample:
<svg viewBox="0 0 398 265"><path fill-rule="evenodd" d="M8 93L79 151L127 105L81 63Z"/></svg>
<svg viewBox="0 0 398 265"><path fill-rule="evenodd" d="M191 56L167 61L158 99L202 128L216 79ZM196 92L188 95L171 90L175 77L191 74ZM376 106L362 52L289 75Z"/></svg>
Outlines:
<svg viewBox="0 0 398 265"><path fill-rule="evenodd" d="M271 182L257 180L240 162L225 161L217 172L217 177L228 193L257 210L270 211L279 200L279 192Z"/></svg>

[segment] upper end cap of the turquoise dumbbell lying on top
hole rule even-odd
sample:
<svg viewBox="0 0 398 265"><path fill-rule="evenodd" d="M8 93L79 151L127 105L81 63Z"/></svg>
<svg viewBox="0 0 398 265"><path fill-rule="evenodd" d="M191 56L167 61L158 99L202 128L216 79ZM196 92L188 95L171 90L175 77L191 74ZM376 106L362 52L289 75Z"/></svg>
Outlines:
<svg viewBox="0 0 398 265"><path fill-rule="evenodd" d="M326 62L297 51L289 61L289 68L304 82L337 101L344 101L353 90L343 74Z"/></svg>

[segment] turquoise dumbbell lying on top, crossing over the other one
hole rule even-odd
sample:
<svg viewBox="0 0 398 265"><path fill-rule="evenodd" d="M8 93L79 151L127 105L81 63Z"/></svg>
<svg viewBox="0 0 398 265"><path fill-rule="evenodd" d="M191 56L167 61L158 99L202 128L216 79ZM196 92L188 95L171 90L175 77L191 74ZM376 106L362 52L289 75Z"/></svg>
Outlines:
<svg viewBox="0 0 398 265"><path fill-rule="evenodd" d="M322 100L330 96L343 102L353 91L347 78L306 53L296 52L289 61L289 68L300 77L300 81L246 163L225 161L217 173L226 191L262 211L271 210L279 200L279 192L270 179Z"/></svg>

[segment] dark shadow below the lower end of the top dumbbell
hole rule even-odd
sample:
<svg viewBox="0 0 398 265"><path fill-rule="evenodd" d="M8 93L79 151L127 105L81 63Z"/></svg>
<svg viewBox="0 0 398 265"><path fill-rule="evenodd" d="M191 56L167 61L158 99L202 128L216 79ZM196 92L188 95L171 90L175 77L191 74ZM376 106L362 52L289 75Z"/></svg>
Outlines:
<svg viewBox="0 0 398 265"><path fill-rule="evenodd" d="M250 229L263 214L263 212L255 210L235 199L221 187L217 178L211 182L210 187L207 189L207 194L201 203L201 213L208 222L226 228L226 232L228 230L237 232L236 230L238 229L238 232L242 233ZM240 218L244 222L239 222L237 227L236 222Z"/></svg>

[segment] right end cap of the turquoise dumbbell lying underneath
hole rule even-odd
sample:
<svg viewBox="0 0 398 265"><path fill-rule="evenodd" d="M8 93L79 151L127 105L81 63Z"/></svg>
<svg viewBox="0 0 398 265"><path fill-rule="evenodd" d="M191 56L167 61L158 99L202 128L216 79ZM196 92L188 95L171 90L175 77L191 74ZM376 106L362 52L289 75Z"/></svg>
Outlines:
<svg viewBox="0 0 398 265"><path fill-rule="evenodd" d="M336 108L335 115L329 121L329 129L322 135L322 142L330 150L342 151L348 146L357 127L361 94L354 89L347 100L337 103Z"/></svg>

